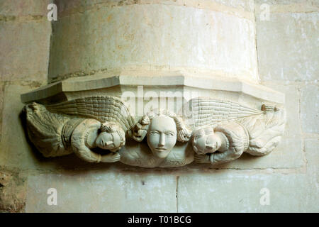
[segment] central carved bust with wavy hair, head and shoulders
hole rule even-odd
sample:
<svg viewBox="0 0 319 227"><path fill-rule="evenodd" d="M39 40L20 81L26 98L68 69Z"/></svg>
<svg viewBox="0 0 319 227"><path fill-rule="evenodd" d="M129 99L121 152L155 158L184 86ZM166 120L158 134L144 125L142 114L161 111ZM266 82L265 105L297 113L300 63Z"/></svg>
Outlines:
<svg viewBox="0 0 319 227"><path fill-rule="evenodd" d="M121 153L121 162L140 167L179 167L194 160L193 152L185 150L186 145L181 145L178 150L174 149L177 141L186 142L191 135L181 118L168 111L156 111L147 113L140 123L143 126L140 135L147 136L150 150L124 150ZM143 138L141 136L140 140Z"/></svg>

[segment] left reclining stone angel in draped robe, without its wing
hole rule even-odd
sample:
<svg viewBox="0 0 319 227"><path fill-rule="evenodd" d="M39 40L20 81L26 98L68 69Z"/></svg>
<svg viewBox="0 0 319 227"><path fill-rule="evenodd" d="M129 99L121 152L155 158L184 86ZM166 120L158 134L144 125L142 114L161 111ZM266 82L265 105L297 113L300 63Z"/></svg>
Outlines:
<svg viewBox="0 0 319 227"><path fill-rule="evenodd" d="M117 123L53 114L37 103L28 104L24 111L29 138L45 157L75 153L87 162L120 160L116 151L125 145L125 132ZM111 153L101 155L94 148Z"/></svg>

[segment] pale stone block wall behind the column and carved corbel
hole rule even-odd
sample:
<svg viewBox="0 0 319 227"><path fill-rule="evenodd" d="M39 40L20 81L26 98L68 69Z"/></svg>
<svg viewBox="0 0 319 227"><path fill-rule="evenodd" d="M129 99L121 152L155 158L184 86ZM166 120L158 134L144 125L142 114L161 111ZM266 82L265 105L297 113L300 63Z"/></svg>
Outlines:
<svg viewBox="0 0 319 227"><path fill-rule="evenodd" d="M76 17L88 8L103 11L103 7L135 4L136 10L139 5L148 8L159 5L163 10L168 10L164 6L169 5L182 11L191 7L210 7L212 11L230 15L240 13L252 21L259 79L263 85L286 94L286 132L281 145L270 155L243 155L218 170L196 165L178 170L146 170L122 164L94 165L82 162L74 155L42 157L28 143L23 131L23 118L19 116L23 108L20 94L54 79L81 76L77 64L83 60L75 62L72 69L64 68L60 65L62 62L50 62L50 67L54 68L48 72L50 55L77 57L74 48L74 52L64 53L62 48L50 52L52 27L46 17L49 2L0 0L0 211L319 211L317 1L96 0L70 1L72 4L66 6L63 1L57 1L62 7L59 8L61 20L65 20L68 13ZM262 4L270 6L269 20L260 18L264 10ZM145 12L148 11L145 9ZM75 18L74 21L79 22ZM77 41L81 43L81 40ZM62 44L72 48L72 43ZM136 46L124 44L127 48ZM59 43L52 43L51 47L54 45ZM155 51L152 47L150 50ZM125 55L125 50L122 54ZM136 56L147 59L144 55ZM169 55L162 59L169 59ZM164 60L159 63L165 65ZM223 59L219 62L222 64ZM123 61L121 65L126 63L130 62ZM169 63L173 64L174 60L170 59ZM102 71L105 67L103 61L91 64L96 64ZM86 67L87 72L96 73L91 66ZM254 73L254 69L251 72ZM47 189L50 188L57 189L57 206L47 205ZM264 188L269 192L269 205L260 204L263 196L260 192L264 192Z"/></svg>

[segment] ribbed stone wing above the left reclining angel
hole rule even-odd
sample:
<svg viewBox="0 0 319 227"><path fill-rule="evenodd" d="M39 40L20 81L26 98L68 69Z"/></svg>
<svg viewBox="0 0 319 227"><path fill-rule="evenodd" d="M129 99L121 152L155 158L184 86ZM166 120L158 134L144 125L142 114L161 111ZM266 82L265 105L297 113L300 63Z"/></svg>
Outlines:
<svg viewBox="0 0 319 227"><path fill-rule="evenodd" d="M119 123L131 135L135 119L124 102L114 96L90 96L45 106L48 111Z"/></svg>

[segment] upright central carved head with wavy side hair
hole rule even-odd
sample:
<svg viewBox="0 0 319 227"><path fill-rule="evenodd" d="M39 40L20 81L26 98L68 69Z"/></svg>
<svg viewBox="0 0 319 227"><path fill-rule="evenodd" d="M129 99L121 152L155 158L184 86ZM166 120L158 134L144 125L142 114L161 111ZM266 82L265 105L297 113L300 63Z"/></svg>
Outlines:
<svg viewBox="0 0 319 227"><path fill-rule="evenodd" d="M191 133L180 118L168 111L149 112L139 121L139 140L147 135L147 144L153 155L164 158L179 142L189 140Z"/></svg>

